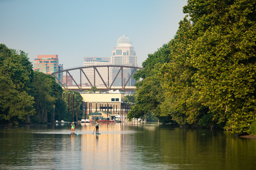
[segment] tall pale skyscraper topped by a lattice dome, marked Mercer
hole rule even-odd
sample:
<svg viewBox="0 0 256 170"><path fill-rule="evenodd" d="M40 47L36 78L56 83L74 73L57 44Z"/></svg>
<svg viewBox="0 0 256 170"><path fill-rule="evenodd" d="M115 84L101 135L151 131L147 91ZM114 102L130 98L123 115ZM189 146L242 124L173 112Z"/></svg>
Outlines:
<svg viewBox="0 0 256 170"><path fill-rule="evenodd" d="M112 56L110 59L111 65L121 65L121 66L135 66L137 67L137 56L134 47L132 46L132 41L126 35L122 35L118 38L114 50L112 50ZM116 74L120 68L110 68L110 85L115 79ZM123 86L125 82L129 79L131 73L134 69L124 68L123 69ZM122 86L121 85L121 73L114 81L112 86ZM126 86L133 86L135 84L134 79L130 79Z"/></svg>

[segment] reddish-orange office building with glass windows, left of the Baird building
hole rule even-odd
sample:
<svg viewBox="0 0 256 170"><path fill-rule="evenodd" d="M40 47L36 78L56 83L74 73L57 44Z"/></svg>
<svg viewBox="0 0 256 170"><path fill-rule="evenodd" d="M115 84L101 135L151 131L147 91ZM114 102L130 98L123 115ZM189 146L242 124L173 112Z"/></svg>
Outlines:
<svg viewBox="0 0 256 170"><path fill-rule="evenodd" d="M59 64L58 55L37 55L37 58L34 60L34 71L51 74L62 70L63 66ZM57 77L63 84L63 74L58 73ZM57 81L57 83L59 82Z"/></svg>

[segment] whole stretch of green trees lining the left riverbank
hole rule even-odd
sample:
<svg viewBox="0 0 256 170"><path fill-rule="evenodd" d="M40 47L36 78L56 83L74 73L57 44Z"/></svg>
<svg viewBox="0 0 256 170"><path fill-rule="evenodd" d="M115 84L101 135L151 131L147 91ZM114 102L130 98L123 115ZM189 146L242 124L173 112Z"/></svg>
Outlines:
<svg viewBox="0 0 256 170"><path fill-rule="evenodd" d="M60 120L68 117L68 101L63 100L63 89L55 78L33 71L26 53L8 49L4 44L0 44L0 85L1 124L45 123L54 122L59 116ZM72 120L72 98L70 100ZM78 120L81 119L81 102L81 95L74 92L75 120L76 106Z"/></svg>

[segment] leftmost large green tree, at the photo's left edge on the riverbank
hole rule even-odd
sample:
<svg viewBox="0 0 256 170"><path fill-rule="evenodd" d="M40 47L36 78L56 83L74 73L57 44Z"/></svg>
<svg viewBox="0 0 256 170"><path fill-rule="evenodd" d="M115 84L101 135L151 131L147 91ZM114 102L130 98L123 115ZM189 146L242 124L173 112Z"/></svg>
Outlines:
<svg viewBox="0 0 256 170"><path fill-rule="evenodd" d="M33 115L34 97L29 95L32 65L27 54L0 44L0 116L2 123L18 124Z"/></svg>

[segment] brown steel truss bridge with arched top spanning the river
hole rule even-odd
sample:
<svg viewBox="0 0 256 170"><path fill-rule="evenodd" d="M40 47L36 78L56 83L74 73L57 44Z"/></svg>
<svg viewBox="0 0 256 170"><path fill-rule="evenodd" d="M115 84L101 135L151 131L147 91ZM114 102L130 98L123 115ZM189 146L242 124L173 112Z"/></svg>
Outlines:
<svg viewBox="0 0 256 170"><path fill-rule="evenodd" d="M97 68L99 67L107 67L108 68L108 85L106 85L106 83L104 82L102 76L100 75L100 72L98 71ZM118 73L116 74L112 84L109 86L109 68L110 67L113 67L113 68L120 68ZM83 69L86 69L86 68L93 68L94 69L94 84L92 84L90 82L90 80L88 79L86 73L83 71ZM125 85L124 82L123 82L123 68L131 68L131 69L134 69L133 72L131 73L130 77L127 79L127 81L125 82ZM134 66L121 66L121 65L102 65L102 66L86 66L86 67L77 67L77 68L71 68L71 69L66 69L66 70L62 70L62 71L57 71L57 72L54 72L54 73L51 73L51 75L55 76L55 78L57 79L57 81L62 85L63 88L65 88L66 90L72 90L72 91L84 91L84 90L89 90L91 87L95 86L95 73L97 72L98 75L100 76L102 82L104 83L105 86L97 86L97 88L100 90L100 91L109 91L109 90L120 90L120 91L134 91L135 90L135 86L126 86L127 83L129 82L129 80L131 79L132 75L134 74L134 72L138 69L143 69L141 67L134 67ZM77 82L74 80L73 76L70 74L69 71L71 70L80 70L80 86L77 84ZM57 78L56 74L57 73L61 73L61 72L66 72L66 86L64 86L60 80ZM113 83L115 82L116 78L118 77L119 73L121 72L121 84L122 84L122 87L121 86L113 86ZM88 82L90 83L90 86L83 86L82 85L82 73L84 74L84 76L86 77L86 79L88 80ZM70 86L68 87L68 76L67 75L70 75L70 77L72 78L72 80L74 81L74 83L76 84L76 86ZM63 80L64 81L64 80Z"/></svg>

